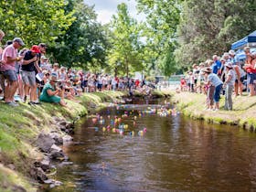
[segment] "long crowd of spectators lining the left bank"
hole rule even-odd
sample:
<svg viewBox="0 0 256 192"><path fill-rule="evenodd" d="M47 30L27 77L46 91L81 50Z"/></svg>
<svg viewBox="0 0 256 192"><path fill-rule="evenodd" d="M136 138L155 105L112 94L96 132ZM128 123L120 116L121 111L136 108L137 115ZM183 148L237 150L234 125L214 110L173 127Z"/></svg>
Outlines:
<svg viewBox="0 0 256 192"><path fill-rule="evenodd" d="M0 30L0 42L5 33ZM59 103L64 99L78 101L82 92L134 90L150 94L153 89L145 80L112 77L108 74L94 74L83 69L67 69L59 63L50 63L47 45L39 43L31 48L23 48L23 39L16 37L0 47L0 91L2 101L10 106L18 106L17 101L29 105L40 101ZM17 96L17 97L15 97Z"/></svg>

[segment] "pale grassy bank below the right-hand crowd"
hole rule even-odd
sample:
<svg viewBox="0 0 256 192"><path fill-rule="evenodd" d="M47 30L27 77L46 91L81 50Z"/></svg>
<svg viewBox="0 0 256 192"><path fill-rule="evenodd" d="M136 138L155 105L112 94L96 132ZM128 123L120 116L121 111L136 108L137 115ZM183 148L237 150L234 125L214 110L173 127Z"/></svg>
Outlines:
<svg viewBox="0 0 256 192"><path fill-rule="evenodd" d="M205 120L208 123L230 124L256 131L256 97L234 97L233 111L224 111L224 96L220 99L218 112L206 111L206 95L180 92L173 93L172 101L187 116L193 119Z"/></svg>

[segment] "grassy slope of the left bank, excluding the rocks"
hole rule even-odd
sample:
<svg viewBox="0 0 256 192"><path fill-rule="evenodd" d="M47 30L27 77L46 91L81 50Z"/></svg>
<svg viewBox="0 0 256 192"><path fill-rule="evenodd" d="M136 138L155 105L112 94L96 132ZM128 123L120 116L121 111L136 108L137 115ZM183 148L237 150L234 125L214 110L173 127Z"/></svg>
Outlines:
<svg viewBox="0 0 256 192"><path fill-rule="evenodd" d="M29 170L42 154L35 147L37 135L49 133L53 126L53 116L73 121L78 116L95 112L104 107L104 101L116 101L125 93L104 91L85 93L80 103L67 101L68 106L43 103L30 106L20 103L16 108L0 103L0 191L37 191Z"/></svg>

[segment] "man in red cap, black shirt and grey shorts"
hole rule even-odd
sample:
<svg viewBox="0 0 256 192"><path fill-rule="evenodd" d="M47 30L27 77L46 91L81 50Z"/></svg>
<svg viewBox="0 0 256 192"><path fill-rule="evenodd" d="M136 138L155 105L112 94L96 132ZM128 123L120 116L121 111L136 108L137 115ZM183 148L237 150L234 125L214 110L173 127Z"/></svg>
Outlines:
<svg viewBox="0 0 256 192"><path fill-rule="evenodd" d="M40 70L37 64L38 56L40 49L38 46L32 46L25 54L25 57L22 62L22 80L24 82L24 101L27 100L28 89L30 87L30 101L28 104L37 104L37 85L36 85L36 72L35 69Z"/></svg>

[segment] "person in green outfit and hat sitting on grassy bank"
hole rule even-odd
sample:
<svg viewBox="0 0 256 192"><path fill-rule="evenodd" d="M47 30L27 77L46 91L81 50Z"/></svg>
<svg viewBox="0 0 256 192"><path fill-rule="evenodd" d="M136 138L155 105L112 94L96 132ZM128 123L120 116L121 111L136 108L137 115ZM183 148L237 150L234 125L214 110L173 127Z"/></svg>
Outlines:
<svg viewBox="0 0 256 192"><path fill-rule="evenodd" d="M45 84L39 100L45 102L59 103L61 106L66 106L66 102L58 95L61 91L57 88L56 83L59 82L56 76L51 76L49 82Z"/></svg>

